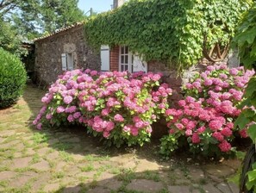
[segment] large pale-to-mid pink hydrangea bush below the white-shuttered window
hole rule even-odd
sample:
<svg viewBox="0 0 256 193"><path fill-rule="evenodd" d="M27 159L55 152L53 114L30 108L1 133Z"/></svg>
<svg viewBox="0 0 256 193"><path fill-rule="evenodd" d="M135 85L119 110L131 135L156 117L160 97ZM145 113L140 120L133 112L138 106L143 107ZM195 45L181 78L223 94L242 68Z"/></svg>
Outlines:
<svg viewBox="0 0 256 193"><path fill-rule="evenodd" d="M172 94L167 84L159 84L160 78L143 72L66 72L42 98L34 125L80 124L110 145L143 145Z"/></svg>

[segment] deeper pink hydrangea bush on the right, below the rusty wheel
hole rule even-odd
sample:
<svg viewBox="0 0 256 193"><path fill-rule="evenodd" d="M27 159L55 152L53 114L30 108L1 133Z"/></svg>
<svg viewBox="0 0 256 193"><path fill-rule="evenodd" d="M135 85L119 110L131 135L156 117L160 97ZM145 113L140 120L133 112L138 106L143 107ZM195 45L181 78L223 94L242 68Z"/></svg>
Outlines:
<svg viewBox="0 0 256 193"><path fill-rule="evenodd" d="M238 104L243 100L247 82L254 72L243 67L209 65L184 85L185 98L177 109L167 109L165 117L169 135L161 139L161 153L168 155L185 137L191 153L221 156L231 153L231 142L238 129L234 121L240 115ZM246 137L246 132L240 132Z"/></svg>

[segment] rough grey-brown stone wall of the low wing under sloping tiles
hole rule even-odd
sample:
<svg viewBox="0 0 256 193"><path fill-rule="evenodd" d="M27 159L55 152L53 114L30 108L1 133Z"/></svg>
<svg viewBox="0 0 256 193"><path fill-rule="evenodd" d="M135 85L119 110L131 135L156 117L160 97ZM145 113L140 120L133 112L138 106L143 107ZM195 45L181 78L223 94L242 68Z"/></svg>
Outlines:
<svg viewBox="0 0 256 193"><path fill-rule="evenodd" d="M74 69L90 68L100 71L100 52L95 53L84 37L84 25L60 31L46 38L35 40L35 82L51 84L62 74L61 54L72 53Z"/></svg>

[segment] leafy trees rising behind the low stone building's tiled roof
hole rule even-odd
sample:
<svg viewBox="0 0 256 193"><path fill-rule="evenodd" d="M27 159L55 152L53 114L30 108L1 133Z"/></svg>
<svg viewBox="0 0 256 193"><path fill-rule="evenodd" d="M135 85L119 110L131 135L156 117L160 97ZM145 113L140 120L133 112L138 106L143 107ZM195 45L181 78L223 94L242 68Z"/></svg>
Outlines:
<svg viewBox="0 0 256 193"><path fill-rule="evenodd" d="M0 0L0 47L21 55L25 51L22 40L33 40L85 18L78 0Z"/></svg>

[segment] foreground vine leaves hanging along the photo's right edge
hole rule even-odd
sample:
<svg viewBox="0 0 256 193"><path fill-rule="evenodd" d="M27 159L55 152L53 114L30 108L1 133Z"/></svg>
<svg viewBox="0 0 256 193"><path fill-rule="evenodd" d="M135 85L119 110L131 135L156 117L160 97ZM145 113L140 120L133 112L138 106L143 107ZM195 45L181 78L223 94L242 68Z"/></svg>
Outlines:
<svg viewBox="0 0 256 193"><path fill-rule="evenodd" d="M234 45L239 47L240 61L248 69L256 71L256 2L247 11L237 33L234 37ZM240 104L244 108L235 121L240 129L247 127L247 134L256 143L256 76L250 79L244 95L247 99ZM254 150L255 151L255 150ZM255 153L255 152L254 152ZM249 154L247 154L249 156ZM254 156L254 155L253 155ZM248 157L250 159L250 157ZM252 160L245 160L245 163ZM251 168L244 166L247 171L247 192L256 192L256 163L250 163ZM241 179L244 178L241 176Z"/></svg>

